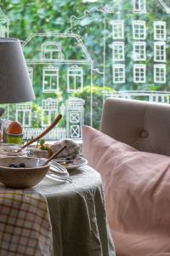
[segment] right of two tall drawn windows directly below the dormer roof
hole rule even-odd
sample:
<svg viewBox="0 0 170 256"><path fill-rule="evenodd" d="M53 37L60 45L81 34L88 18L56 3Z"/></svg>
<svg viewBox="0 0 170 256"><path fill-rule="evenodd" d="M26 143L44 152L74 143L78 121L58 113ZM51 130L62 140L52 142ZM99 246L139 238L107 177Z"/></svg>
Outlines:
<svg viewBox="0 0 170 256"><path fill-rule="evenodd" d="M69 67L67 70L67 91L82 91L83 74L82 67Z"/></svg>

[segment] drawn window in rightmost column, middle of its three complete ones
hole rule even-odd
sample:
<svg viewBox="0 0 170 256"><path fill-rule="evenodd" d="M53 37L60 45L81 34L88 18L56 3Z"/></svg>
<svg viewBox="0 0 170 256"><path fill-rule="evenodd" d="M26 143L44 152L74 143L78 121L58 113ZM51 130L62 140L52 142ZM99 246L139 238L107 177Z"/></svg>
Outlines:
<svg viewBox="0 0 170 256"><path fill-rule="evenodd" d="M165 42L154 43L154 61L165 62L166 61L166 44Z"/></svg>

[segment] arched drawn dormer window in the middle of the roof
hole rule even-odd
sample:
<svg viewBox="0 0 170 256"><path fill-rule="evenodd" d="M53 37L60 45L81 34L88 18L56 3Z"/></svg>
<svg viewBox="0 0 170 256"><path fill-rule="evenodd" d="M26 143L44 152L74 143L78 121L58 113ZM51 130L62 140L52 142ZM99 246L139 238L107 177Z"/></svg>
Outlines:
<svg viewBox="0 0 170 256"><path fill-rule="evenodd" d="M42 58L47 60L62 60L61 44L56 42L42 44Z"/></svg>

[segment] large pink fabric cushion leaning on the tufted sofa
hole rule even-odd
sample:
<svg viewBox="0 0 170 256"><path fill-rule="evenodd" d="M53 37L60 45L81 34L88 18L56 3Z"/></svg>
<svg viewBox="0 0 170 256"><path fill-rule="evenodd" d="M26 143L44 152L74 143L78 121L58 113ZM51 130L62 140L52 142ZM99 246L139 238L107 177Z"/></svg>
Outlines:
<svg viewBox="0 0 170 256"><path fill-rule="evenodd" d="M84 157L103 179L116 255L170 255L170 157L140 152L88 126L82 140Z"/></svg>

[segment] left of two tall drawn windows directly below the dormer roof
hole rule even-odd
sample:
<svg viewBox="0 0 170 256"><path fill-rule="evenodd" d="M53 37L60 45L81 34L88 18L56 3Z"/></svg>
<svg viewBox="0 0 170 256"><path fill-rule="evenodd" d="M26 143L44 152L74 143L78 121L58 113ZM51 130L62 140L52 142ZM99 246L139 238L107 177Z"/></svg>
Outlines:
<svg viewBox="0 0 170 256"><path fill-rule="evenodd" d="M43 92L56 92L59 89L59 69L55 67L43 68Z"/></svg>

